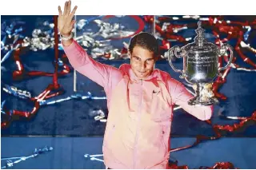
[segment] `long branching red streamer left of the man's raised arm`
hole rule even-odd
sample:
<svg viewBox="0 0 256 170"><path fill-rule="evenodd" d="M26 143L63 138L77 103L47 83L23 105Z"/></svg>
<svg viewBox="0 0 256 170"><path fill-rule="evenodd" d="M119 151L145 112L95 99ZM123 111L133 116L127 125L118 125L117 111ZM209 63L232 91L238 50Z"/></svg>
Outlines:
<svg viewBox="0 0 256 170"><path fill-rule="evenodd" d="M61 72L58 72L58 16L54 16L54 53L55 53L55 61L54 61L54 73L46 73L41 71L30 71L26 72L22 61L19 57L21 49L16 49L14 52L14 60L16 62L16 65L18 65L18 70L14 71L13 78L14 80L21 80L25 76L52 76L53 77L53 83L48 85L47 88L40 93L37 97L30 98L30 101L34 102L34 107L30 112L27 111L20 111L20 110L5 110L6 117L8 121L2 121L1 122L1 128L7 128L8 125L10 125L10 121L12 121L12 117L18 116L18 117L26 117L27 119L30 119L31 117L34 117L34 115L38 112L38 109L40 108L39 101L49 99L50 97L56 97L62 93L64 93L64 89L61 88L61 85L58 84L58 76L66 75L67 73L70 73L70 67L63 63L63 69ZM19 42L22 43L22 42Z"/></svg>

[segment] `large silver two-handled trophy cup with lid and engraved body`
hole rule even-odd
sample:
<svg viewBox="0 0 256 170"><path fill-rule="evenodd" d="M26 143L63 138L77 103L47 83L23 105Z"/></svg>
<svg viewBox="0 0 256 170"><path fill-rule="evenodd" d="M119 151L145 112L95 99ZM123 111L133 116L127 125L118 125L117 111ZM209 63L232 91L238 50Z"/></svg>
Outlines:
<svg viewBox="0 0 256 170"><path fill-rule="evenodd" d="M198 29L195 30L197 36L194 42L182 46L174 45L168 50L168 61L175 72L182 73L180 78L184 78L188 83L196 85L195 97L188 101L189 105L216 105L218 100L214 95L205 95L205 85L211 84L215 77L221 75L220 71L226 69L233 59L233 48L228 44L222 44L219 48L213 43L206 42L204 37L204 29L201 27L201 22L198 22ZM226 66L218 67L218 57L230 51L230 61ZM183 70L175 69L171 58L183 57ZM209 90L209 89L207 89ZM211 89L210 89L211 90ZM210 91L213 94L212 91Z"/></svg>

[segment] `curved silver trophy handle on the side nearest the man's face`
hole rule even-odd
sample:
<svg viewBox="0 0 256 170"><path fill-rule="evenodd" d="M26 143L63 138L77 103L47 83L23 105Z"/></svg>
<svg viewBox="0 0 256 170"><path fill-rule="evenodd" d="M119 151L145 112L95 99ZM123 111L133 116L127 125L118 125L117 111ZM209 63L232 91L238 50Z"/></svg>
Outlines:
<svg viewBox="0 0 256 170"><path fill-rule="evenodd" d="M176 69L174 67L174 65L173 65L173 63L171 61L171 58L173 56L181 58L181 57L184 57L185 55L186 55L186 51L184 49L181 49L178 45L175 45L175 46L173 46L172 48L170 48L168 50L168 61L169 61L169 64L170 64L171 68L174 69L175 72L182 73L182 75L179 76L180 78L184 78L185 77L185 73L184 73L183 70Z"/></svg>

